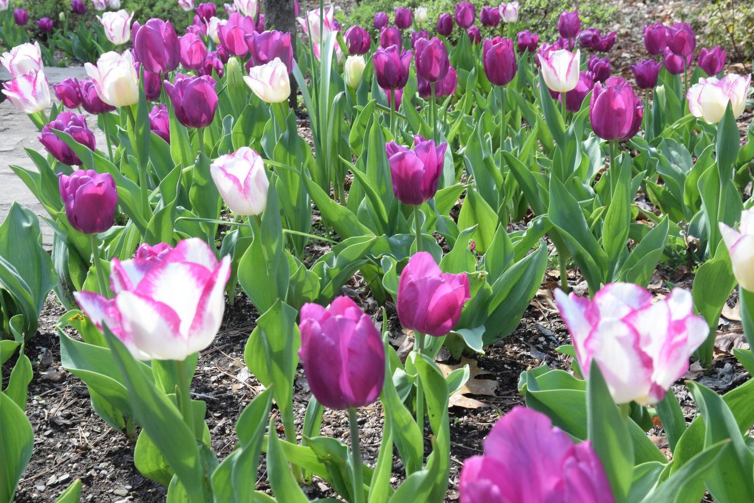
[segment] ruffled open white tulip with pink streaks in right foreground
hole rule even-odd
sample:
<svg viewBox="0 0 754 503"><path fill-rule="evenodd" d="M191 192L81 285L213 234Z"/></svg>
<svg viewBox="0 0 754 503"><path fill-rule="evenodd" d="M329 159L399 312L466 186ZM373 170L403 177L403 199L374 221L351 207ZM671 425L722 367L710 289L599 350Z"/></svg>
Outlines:
<svg viewBox="0 0 754 503"><path fill-rule="evenodd" d="M651 293L630 283L607 284L593 300L561 290L555 299L581 373L589 379L595 360L615 403L662 400L710 333L681 288L654 303Z"/></svg>

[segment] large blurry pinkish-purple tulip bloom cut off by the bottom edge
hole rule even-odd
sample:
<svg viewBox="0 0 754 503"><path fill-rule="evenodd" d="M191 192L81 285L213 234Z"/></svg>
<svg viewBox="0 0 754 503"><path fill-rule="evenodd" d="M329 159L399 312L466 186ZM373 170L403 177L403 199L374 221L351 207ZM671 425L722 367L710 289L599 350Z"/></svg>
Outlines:
<svg viewBox="0 0 754 503"><path fill-rule="evenodd" d="M464 461L458 492L461 503L615 501L589 440L574 443L546 415L524 406L495 422L483 455Z"/></svg>

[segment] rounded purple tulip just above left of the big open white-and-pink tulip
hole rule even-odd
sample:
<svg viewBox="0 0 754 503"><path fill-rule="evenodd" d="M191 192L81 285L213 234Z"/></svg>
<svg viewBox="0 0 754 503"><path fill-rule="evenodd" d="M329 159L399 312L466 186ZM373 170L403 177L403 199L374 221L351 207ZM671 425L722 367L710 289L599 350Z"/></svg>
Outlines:
<svg viewBox="0 0 754 503"><path fill-rule="evenodd" d="M95 170L76 170L70 176L60 173L58 185L72 228L84 234L99 234L112 227L118 191L110 173Z"/></svg>

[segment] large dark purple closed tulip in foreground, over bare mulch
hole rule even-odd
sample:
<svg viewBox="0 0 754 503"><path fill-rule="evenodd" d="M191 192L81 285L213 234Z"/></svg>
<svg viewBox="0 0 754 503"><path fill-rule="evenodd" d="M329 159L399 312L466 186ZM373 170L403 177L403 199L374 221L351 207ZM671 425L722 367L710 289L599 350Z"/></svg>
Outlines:
<svg viewBox="0 0 754 503"><path fill-rule="evenodd" d="M348 297L301 308L299 357L311 393L330 409L369 405L382 392L385 347L368 314Z"/></svg>

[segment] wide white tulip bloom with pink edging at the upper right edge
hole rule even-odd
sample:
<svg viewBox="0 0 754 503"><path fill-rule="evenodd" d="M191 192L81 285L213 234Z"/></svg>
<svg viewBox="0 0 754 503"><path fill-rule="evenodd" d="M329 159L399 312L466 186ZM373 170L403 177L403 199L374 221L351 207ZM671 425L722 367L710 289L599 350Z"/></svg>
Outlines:
<svg viewBox="0 0 754 503"><path fill-rule="evenodd" d="M730 102L734 118L739 118L746 105L746 91L750 83L751 75L743 77L734 73L722 79L700 78L699 83L692 85L686 94L688 109L691 115L703 118L707 124L717 124Z"/></svg>

